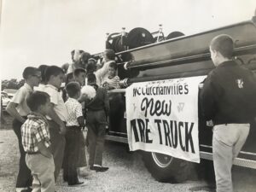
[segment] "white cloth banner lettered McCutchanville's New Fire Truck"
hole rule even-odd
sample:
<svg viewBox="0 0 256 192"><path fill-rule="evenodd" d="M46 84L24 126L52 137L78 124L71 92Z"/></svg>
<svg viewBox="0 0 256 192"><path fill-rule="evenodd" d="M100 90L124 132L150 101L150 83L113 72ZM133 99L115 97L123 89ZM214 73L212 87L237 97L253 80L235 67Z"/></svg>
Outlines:
<svg viewBox="0 0 256 192"><path fill-rule="evenodd" d="M130 150L199 163L198 85L205 78L131 84L125 94Z"/></svg>

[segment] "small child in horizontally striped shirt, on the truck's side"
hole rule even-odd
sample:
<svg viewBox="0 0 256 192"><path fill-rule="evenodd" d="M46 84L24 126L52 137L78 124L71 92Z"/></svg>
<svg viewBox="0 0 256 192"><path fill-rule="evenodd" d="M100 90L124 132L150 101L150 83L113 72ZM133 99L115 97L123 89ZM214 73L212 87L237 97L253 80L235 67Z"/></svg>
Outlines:
<svg viewBox="0 0 256 192"><path fill-rule="evenodd" d="M109 63L108 66L108 76L105 79L102 79L102 86L106 90L119 89L119 76L115 75L117 70L117 64L115 62Z"/></svg>

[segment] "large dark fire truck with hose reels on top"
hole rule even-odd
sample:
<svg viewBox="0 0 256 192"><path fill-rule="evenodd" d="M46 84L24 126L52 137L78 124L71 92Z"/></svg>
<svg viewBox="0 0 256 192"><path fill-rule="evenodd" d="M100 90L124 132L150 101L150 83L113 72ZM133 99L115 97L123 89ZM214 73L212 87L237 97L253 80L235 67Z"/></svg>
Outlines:
<svg viewBox="0 0 256 192"><path fill-rule="evenodd" d="M148 32L137 27L131 32L108 34L106 48L114 49L122 89L110 90L110 128L107 139L128 143L126 127L125 90L131 84L166 79L180 79L207 75L213 68L209 43L219 34L230 35L236 44L234 60L244 67L256 70L256 16L252 20L222 26L207 32L184 35L172 32L165 36L160 30ZM100 59L101 54L94 55ZM200 89L199 89L200 91ZM256 98L255 98L256 99ZM199 116L199 149L201 160L212 160L212 129ZM234 165L256 168L256 124L251 131ZM180 182L188 176L191 162L171 155L143 151L148 172L161 182Z"/></svg>

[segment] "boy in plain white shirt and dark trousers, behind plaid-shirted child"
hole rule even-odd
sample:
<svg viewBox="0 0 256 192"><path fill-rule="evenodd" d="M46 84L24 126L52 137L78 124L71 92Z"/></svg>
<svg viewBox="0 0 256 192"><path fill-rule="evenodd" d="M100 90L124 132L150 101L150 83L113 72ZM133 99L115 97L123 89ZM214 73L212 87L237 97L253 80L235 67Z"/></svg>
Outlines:
<svg viewBox="0 0 256 192"><path fill-rule="evenodd" d="M67 121L67 108L58 90L65 79L61 67L49 66L45 70L45 79L48 84L45 85L44 92L49 94L50 110L46 116L49 119L49 135L51 138L51 151L55 161L55 181L61 171L62 160L65 148L65 132Z"/></svg>

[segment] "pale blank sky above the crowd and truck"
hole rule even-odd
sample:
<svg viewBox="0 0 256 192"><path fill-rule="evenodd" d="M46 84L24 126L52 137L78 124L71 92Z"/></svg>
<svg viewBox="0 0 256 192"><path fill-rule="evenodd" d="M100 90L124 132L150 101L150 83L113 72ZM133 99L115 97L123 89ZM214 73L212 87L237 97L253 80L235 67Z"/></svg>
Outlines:
<svg viewBox="0 0 256 192"><path fill-rule="evenodd" d="M1 0L0 0L1 2ZM186 35L251 20L255 0L2 0L0 78L71 62L70 52L104 50L106 33L143 27Z"/></svg>

